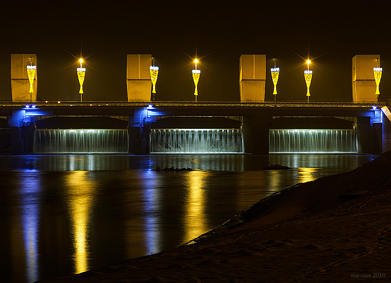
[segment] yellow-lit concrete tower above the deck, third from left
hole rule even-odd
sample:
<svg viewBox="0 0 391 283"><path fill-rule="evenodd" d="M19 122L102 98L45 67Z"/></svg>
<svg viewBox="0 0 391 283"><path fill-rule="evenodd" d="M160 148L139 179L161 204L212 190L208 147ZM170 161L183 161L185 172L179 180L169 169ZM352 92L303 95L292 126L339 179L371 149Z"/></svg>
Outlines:
<svg viewBox="0 0 391 283"><path fill-rule="evenodd" d="M240 102L265 101L266 55L241 55Z"/></svg>

